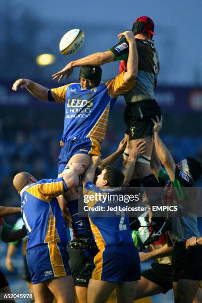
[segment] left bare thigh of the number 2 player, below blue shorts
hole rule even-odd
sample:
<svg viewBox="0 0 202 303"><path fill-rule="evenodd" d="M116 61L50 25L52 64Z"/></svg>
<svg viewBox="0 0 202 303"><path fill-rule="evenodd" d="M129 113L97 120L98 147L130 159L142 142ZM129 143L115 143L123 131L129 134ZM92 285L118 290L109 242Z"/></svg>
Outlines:
<svg viewBox="0 0 202 303"><path fill-rule="evenodd" d="M88 285L87 303L105 303L117 285L117 282L91 279Z"/></svg>

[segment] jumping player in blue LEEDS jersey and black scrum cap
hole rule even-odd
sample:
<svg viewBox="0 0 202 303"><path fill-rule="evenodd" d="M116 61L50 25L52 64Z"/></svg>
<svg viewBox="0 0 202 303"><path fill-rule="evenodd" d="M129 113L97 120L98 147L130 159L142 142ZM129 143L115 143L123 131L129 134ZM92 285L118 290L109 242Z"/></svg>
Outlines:
<svg viewBox="0 0 202 303"><path fill-rule="evenodd" d="M100 155L106 133L109 113L117 97L130 91L136 82L138 56L132 32L125 36L129 44L127 70L116 78L101 83L101 67L85 66L80 70L80 83L70 83L56 89L47 89L29 79L18 79L12 89L26 88L44 101L65 103L64 131L61 138L58 174L68 162L90 163L91 155Z"/></svg>

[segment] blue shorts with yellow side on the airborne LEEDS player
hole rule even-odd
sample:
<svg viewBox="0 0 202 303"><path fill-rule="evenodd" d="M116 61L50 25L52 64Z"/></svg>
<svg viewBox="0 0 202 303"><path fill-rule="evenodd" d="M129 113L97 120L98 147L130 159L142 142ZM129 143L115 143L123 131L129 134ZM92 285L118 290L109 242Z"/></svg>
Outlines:
<svg viewBox="0 0 202 303"><path fill-rule="evenodd" d="M93 138L84 138L64 143L59 154L58 175L63 172L70 158L77 153L101 155L100 142Z"/></svg>

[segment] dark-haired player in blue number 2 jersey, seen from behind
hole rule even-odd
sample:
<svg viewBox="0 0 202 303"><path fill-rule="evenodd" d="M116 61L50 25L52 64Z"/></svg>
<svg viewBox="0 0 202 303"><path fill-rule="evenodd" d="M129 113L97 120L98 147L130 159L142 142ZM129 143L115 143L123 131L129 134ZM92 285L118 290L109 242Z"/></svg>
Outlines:
<svg viewBox="0 0 202 303"><path fill-rule="evenodd" d="M91 197L89 207L108 206L107 202L104 204L102 200L98 201L97 195L120 190L124 180L121 170L106 166L94 184L96 168L100 163L100 157L93 156L85 173L83 191L85 197ZM140 258L133 244L129 218L124 212L121 216L113 212L108 217L98 215L93 208L89 210L91 229L99 253L94 258L95 269L88 285L87 303L106 302L115 288L118 302L132 303L140 279Z"/></svg>

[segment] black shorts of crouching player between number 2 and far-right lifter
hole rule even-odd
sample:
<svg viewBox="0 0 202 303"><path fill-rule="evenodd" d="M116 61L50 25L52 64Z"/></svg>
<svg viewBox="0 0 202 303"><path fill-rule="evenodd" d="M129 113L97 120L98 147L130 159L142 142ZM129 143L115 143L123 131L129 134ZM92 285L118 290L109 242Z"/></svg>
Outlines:
<svg viewBox="0 0 202 303"><path fill-rule="evenodd" d="M163 289L163 294L166 294L173 288L173 267L172 265L159 264L153 262L152 268L145 270L141 273L141 276L159 285Z"/></svg>

